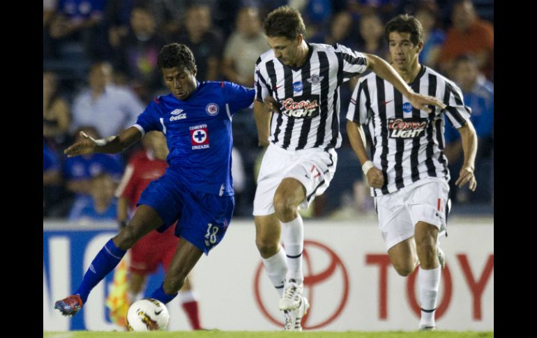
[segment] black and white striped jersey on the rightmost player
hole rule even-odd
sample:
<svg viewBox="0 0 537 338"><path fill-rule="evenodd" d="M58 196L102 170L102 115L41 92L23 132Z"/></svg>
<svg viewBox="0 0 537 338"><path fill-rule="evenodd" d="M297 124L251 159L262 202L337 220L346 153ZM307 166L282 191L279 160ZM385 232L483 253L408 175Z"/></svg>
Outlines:
<svg viewBox="0 0 537 338"><path fill-rule="evenodd" d="M449 180L442 113L455 128L470 118L471 109L464 106L459 87L438 72L421 66L409 86L416 93L438 98L446 109L432 107L431 114L418 110L374 73L358 80L352 93L347 120L368 124L372 162L384 174L384 186L372 188L372 196L395 192L426 177Z"/></svg>

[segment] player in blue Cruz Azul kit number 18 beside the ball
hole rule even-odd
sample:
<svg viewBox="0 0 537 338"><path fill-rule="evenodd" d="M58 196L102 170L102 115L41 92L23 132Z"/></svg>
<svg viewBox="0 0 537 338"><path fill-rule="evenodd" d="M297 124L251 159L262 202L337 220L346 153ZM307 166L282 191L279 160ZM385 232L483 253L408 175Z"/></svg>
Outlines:
<svg viewBox="0 0 537 338"><path fill-rule="evenodd" d="M165 231L178 221L181 238L160 287L153 292L165 304L174 299L185 277L203 253L220 243L234 209L231 155L232 116L253 105L253 89L230 82L197 82L195 59L186 45L165 45L158 67L171 93L153 100L135 125L105 139L83 139L68 147L68 157L89 153L118 153L158 130L166 135L169 167L142 193L133 219L110 239L91 262L73 295L54 308L73 316L126 251L153 230Z"/></svg>

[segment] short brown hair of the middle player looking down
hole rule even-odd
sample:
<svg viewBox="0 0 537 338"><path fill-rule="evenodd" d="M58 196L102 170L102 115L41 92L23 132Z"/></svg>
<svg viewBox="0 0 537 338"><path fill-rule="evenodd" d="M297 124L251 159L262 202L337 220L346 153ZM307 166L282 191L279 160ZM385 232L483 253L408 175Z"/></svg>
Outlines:
<svg viewBox="0 0 537 338"><path fill-rule="evenodd" d="M289 6L280 6L273 10L263 22L266 36L285 36L294 40L298 34L305 36L305 25L298 10Z"/></svg>

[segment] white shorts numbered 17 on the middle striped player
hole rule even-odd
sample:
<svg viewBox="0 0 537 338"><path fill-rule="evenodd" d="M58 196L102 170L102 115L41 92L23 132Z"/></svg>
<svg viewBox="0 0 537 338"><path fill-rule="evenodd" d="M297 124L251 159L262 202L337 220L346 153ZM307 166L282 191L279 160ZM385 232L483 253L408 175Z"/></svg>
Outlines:
<svg viewBox="0 0 537 338"><path fill-rule="evenodd" d="M253 215L274 213L274 194L284 178L296 178L305 187L306 197L300 208L307 209L315 196L330 185L337 163L338 153L333 148L328 151L320 148L286 151L270 144L257 176Z"/></svg>

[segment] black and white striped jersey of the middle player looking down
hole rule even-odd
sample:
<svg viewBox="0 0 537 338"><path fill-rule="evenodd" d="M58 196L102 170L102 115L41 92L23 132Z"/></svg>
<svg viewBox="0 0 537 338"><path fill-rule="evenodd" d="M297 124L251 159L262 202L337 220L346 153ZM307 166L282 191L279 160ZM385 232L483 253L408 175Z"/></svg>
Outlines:
<svg viewBox="0 0 537 338"><path fill-rule="evenodd" d="M308 44L301 67L286 66L265 52L255 66L256 99L269 95L280 105L273 113L269 141L280 148L339 148L340 84L365 72L366 59L343 45Z"/></svg>

